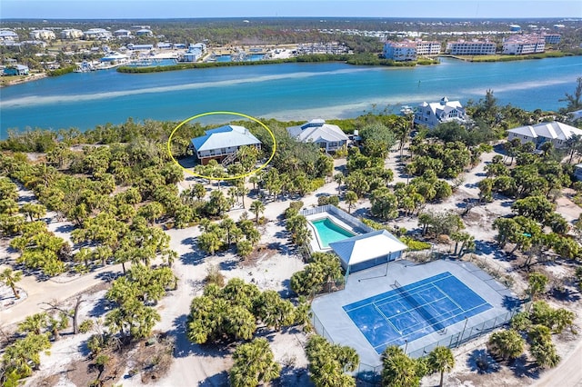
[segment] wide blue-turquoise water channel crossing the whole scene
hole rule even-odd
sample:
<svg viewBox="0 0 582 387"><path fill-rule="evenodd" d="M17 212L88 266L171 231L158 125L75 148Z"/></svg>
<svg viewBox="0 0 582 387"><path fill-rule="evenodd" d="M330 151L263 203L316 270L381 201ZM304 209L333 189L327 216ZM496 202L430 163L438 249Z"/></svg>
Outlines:
<svg viewBox="0 0 582 387"><path fill-rule="evenodd" d="M157 74L66 74L0 89L8 128L69 128L135 120L181 121L209 111L281 120L355 117L447 96L467 103L492 89L500 104L555 110L582 76L582 57L416 68L336 63L216 67ZM229 119L229 118L226 118Z"/></svg>

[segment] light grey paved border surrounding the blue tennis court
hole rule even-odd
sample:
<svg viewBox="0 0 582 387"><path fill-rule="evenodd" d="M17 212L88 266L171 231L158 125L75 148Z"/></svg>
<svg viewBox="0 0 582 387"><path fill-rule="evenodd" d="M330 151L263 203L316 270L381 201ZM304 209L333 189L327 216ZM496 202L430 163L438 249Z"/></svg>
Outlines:
<svg viewBox="0 0 582 387"><path fill-rule="evenodd" d="M386 270L387 268L387 270ZM517 298L505 286L479 269L476 265L461 261L440 260L431 263L412 263L401 260L376 266L361 272L351 273L346 288L336 293L319 296L311 305L316 332L327 340L348 345L358 352L360 362L376 366L380 355L343 310L343 306L365 300L376 294L393 290L395 280L401 285L416 283L437 273L450 272L473 292L490 303L493 308L478 313L459 323L447 327L445 335L433 332L406 344L406 352L422 351L426 346L443 341L449 336L467 331L479 323L483 324L498 316L505 316L517 305Z"/></svg>

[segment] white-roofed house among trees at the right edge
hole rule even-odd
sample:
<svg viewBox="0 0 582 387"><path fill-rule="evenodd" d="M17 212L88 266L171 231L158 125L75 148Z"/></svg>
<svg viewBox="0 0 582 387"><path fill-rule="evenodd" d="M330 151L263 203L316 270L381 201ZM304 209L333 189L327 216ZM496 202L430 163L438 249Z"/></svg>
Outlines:
<svg viewBox="0 0 582 387"><path fill-rule="evenodd" d="M547 142L554 144L555 148L563 148L566 146L567 139L574 134L582 136L582 129L553 121L509 129L507 140L517 138L521 144L531 142L536 144L536 149Z"/></svg>

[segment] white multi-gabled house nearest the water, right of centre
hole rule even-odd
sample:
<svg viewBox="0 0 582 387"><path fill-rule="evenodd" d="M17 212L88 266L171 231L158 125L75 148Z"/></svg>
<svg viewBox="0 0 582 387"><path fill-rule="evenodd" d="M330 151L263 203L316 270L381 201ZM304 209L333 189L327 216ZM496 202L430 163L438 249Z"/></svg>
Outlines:
<svg viewBox="0 0 582 387"><path fill-rule="evenodd" d="M443 97L439 102L419 104L415 112L415 124L434 129L437 124L456 121L458 124L467 124L468 118L465 108L459 101L449 101Z"/></svg>

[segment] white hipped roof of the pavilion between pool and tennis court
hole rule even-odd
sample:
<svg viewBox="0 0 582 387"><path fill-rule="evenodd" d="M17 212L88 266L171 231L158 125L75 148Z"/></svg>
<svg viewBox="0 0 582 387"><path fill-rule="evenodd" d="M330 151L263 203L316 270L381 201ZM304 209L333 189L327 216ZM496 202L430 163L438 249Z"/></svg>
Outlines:
<svg viewBox="0 0 582 387"><path fill-rule="evenodd" d="M402 252L408 247L386 230L364 233L353 238L329 243L339 259L346 265L363 263L389 253Z"/></svg>

